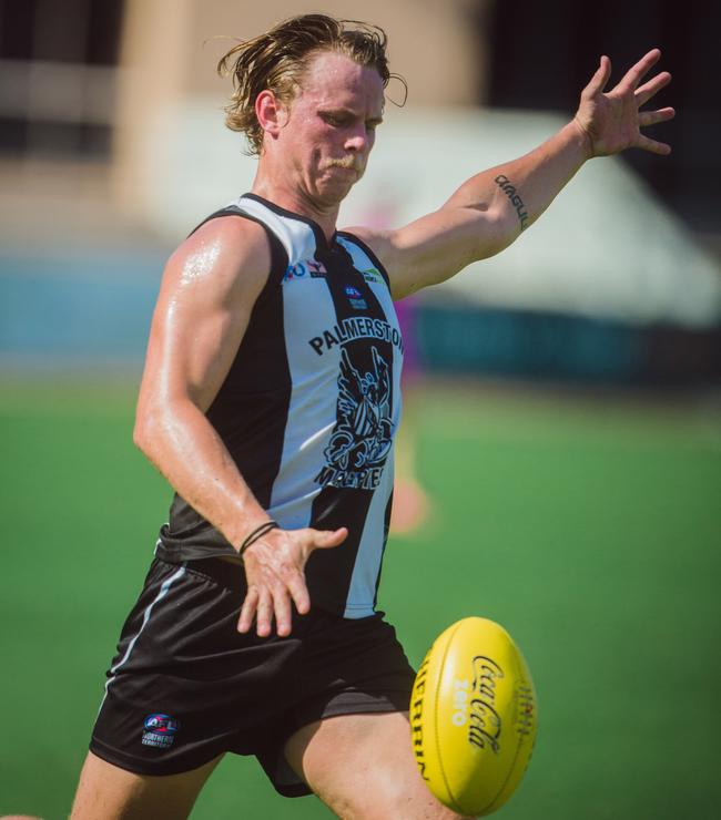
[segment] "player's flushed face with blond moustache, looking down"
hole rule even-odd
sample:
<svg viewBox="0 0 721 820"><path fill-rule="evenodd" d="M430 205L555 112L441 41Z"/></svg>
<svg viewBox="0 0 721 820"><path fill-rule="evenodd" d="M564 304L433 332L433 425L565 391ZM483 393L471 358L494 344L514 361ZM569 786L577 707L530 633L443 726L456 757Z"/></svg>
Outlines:
<svg viewBox="0 0 721 820"><path fill-rule="evenodd" d="M272 146L304 196L329 207L347 195L363 176L383 106L375 69L331 52L313 60Z"/></svg>

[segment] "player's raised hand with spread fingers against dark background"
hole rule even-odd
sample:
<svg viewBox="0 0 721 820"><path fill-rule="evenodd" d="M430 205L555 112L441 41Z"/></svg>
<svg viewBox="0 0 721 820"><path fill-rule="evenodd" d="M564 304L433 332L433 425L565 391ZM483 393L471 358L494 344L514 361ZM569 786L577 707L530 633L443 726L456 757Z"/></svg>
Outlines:
<svg viewBox="0 0 721 820"><path fill-rule="evenodd" d="M662 71L640 85L644 75L659 61L659 49L649 51L629 69L622 80L608 92L603 89L611 76L611 61L602 57L598 71L581 93L575 116L576 124L588 139L589 156L608 156L626 148L642 148L653 154L670 154L671 146L641 133L647 125L671 120L671 107L639 111L660 89L668 85L671 74Z"/></svg>

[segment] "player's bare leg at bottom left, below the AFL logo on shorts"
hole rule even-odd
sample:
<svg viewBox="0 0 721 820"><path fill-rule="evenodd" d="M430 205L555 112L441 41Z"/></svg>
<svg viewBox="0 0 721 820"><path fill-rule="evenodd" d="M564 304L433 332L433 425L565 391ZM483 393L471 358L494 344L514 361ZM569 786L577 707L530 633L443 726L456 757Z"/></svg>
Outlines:
<svg viewBox="0 0 721 820"><path fill-rule="evenodd" d="M150 777L85 758L71 820L182 820L221 758L182 775Z"/></svg>

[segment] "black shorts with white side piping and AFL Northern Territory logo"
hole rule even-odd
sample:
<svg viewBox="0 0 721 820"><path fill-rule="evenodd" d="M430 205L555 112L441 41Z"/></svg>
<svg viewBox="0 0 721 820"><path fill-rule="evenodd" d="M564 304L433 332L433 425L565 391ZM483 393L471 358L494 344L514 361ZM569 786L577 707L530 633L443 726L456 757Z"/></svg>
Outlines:
<svg viewBox="0 0 721 820"><path fill-rule="evenodd" d="M408 708L414 672L383 613L294 613L288 637L236 631L245 581L217 560L155 558L108 672L90 749L141 775L174 775L231 751L255 755L281 795L308 788L285 761L321 718Z"/></svg>

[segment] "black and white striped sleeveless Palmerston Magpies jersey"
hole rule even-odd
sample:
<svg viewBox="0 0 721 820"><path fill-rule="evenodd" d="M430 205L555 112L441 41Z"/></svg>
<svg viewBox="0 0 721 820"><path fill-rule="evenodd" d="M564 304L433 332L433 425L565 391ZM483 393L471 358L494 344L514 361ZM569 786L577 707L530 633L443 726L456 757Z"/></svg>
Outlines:
<svg viewBox="0 0 721 820"><path fill-rule="evenodd" d="M393 495L403 341L388 276L357 237L245 194L210 218L261 224L272 269L207 411L255 498L283 529L348 529L306 564L314 606L375 612ZM175 495L156 555L236 555ZM242 572L242 570L240 570Z"/></svg>

